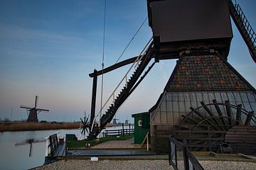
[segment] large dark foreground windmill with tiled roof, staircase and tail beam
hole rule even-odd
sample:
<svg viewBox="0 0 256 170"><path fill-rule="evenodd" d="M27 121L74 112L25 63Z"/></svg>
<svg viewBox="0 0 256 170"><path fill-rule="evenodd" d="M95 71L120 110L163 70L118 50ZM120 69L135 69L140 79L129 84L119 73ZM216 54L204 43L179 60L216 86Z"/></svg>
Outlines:
<svg viewBox="0 0 256 170"><path fill-rule="evenodd" d="M256 146L255 139L241 134L246 131L256 136L256 90L228 63L233 38L230 16L256 62L256 34L240 6L231 0L147 0L147 8L153 38L142 53L90 74L88 139L97 137L110 123L156 62L178 59L163 93L149 110L152 149L167 152L171 135L181 142L186 140L193 150L215 151L221 142L229 142L234 151L242 148L250 152ZM110 105L107 111L102 113L103 106L95 115L97 76L126 64L132 64L132 71L124 75L124 86L114 89L112 103L109 98L104 105ZM100 120L97 125L96 117Z"/></svg>

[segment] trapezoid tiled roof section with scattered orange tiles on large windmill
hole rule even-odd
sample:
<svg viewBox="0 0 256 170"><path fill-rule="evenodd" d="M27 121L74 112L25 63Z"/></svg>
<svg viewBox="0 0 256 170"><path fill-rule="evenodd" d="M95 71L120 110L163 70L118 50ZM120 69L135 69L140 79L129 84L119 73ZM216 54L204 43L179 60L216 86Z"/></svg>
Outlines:
<svg viewBox="0 0 256 170"><path fill-rule="evenodd" d="M166 91L255 90L218 55L183 56L171 74Z"/></svg>

